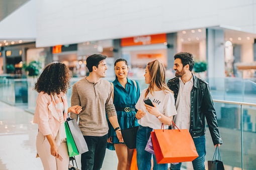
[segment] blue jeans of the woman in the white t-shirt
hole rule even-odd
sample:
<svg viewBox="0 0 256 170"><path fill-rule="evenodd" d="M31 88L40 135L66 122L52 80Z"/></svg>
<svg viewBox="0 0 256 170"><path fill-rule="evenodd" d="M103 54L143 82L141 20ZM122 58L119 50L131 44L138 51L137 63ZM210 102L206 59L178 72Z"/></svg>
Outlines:
<svg viewBox="0 0 256 170"><path fill-rule="evenodd" d="M137 132L137 140L136 140L138 170L151 169L152 154L145 150L151 131L152 131L152 128L139 125L139 129ZM165 169L167 170L168 164L167 163L157 164L154 154L153 154L153 162L154 162L153 170L165 170Z"/></svg>

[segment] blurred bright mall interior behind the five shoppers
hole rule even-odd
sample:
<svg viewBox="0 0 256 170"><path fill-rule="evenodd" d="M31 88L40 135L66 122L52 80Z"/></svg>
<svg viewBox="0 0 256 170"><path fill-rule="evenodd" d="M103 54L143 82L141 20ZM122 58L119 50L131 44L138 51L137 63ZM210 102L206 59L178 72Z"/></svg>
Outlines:
<svg viewBox="0 0 256 170"><path fill-rule="evenodd" d="M71 71L70 105L72 85L89 75L92 54L108 56L110 82L114 62L126 59L128 78L142 91L147 63L162 60L167 81L178 52L193 54L193 73L210 85L225 169L256 169L256 0L0 1L0 169L43 169L32 89L47 64L59 61ZM206 169L214 150L207 128ZM117 163L107 149L102 169Z"/></svg>

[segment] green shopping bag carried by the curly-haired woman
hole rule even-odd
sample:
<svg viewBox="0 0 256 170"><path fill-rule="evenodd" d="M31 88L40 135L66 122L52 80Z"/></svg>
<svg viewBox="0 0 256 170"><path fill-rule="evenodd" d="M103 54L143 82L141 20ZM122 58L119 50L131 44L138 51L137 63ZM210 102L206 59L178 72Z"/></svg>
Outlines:
<svg viewBox="0 0 256 170"><path fill-rule="evenodd" d="M70 132L68 124L67 124L67 122L65 122L64 124L65 124L66 136L67 136L68 155L69 155L69 157L78 155L79 153L78 153L78 150L77 150L76 145L74 143L74 139L72 137L72 134Z"/></svg>

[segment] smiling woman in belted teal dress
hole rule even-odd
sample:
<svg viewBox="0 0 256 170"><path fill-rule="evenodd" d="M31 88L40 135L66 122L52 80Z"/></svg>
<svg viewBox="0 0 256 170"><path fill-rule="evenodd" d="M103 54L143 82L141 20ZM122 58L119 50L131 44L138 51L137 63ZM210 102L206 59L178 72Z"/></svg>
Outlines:
<svg viewBox="0 0 256 170"><path fill-rule="evenodd" d="M125 59L117 59L115 62L116 80L113 81L113 103L117 111L117 119L121 129L126 129L132 126L132 121L135 118L137 103L140 90L139 84L136 81L127 78L128 63ZM135 118L135 126L138 126L138 120ZM115 129L109 124L109 139L107 148L116 150L118 157L117 169L130 169L133 149L129 149L124 143L120 143ZM120 129L118 129L120 130Z"/></svg>

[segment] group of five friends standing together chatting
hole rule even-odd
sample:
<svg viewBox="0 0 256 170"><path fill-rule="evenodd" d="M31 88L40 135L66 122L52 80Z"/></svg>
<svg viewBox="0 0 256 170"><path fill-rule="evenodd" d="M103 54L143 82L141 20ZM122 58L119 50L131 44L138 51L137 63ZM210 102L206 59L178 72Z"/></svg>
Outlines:
<svg viewBox="0 0 256 170"><path fill-rule="evenodd" d="M160 129L162 124L168 129L172 121L178 128L188 129L193 137L199 155L192 161L194 169L205 169L205 119L215 147L222 144L222 139L209 84L192 73L193 55L180 52L174 56L176 77L167 84L163 63L158 59L149 62L144 74L148 88L142 92L138 82L127 78L129 66L125 59L116 60L116 79L112 83L102 79L108 69L106 58L100 54L87 58L90 74L72 86L71 107L67 106L65 95L70 87L65 64L47 65L38 78L34 88L39 93L34 123L38 124L36 148L44 169L68 169L64 121L69 112L71 118L79 121L89 149L81 154L82 170L101 169L106 148L116 151L118 170L130 169L134 149L125 145L121 129L131 127L134 119L135 126L139 126L136 138L139 170L151 168L152 156L154 170L167 169L167 163L157 164L155 155L145 151L145 147L153 129ZM144 103L147 99L153 106ZM181 169L181 162L171 163L170 169Z"/></svg>

